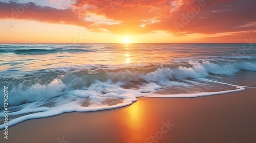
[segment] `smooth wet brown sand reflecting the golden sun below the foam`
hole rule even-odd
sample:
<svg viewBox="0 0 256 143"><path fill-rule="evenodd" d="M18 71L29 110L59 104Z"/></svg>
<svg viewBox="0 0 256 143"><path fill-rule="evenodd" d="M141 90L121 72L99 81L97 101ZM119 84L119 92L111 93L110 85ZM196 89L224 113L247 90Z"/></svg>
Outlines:
<svg viewBox="0 0 256 143"><path fill-rule="evenodd" d="M72 112L9 127L0 142L256 142L256 89L199 98L138 98L130 106Z"/></svg>

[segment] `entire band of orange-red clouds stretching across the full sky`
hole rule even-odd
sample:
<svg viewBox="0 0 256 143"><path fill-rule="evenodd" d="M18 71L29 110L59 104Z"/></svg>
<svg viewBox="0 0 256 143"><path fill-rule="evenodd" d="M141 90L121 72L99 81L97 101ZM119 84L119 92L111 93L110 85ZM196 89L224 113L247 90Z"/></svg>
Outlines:
<svg viewBox="0 0 256 143"><path fill-rule="evenodd" d="M64 10L26 5L29 8L15 16L11 9L25 5L0 2L0 18L72 24L113 34L161 30L176 36L251 31L256 21L254 0L76 0Z"/></svg>

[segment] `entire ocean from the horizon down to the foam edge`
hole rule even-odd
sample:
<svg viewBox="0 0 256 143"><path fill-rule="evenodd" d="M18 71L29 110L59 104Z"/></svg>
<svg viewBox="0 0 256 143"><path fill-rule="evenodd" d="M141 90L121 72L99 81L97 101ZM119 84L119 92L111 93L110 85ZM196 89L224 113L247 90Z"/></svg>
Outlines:
<svg viewBox="0 0 256 143"><path fill-rule="evenodd" d="M0 44L0 129L139 97L195 98L256 88L254 43ZM3 106L2 106L3 105Z"/></svg>

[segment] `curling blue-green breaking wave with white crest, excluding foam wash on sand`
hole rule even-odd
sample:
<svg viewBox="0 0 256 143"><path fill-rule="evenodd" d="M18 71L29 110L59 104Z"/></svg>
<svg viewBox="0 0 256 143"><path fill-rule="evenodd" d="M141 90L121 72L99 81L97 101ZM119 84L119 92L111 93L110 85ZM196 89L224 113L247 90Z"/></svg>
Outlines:
<svg viewBox="0 0 256 143"><path fill-rule="evenodd" d="M3 77L0 78L2 82L0 88L3 88L3 85L7 85L13 93L13 98L10 99L9 103L18 104L26 101L36 101L38 98L52 98L54 95L58 95L57 93L61 93L62 90L87 88L96 81L106 82L110 80L113 83L124 82L124 84L175 81L182 83L182 80L186 79L197 80L198 78L208 78L216 75L234 75L240 70L256 71L256 63L212 63L207 60L199 62L189 60L188 64L182 65L153 64L141 67L121 68L108 66L102 68L100 65L88 66L87 68L82 66L56 67L30 71L26 74L18 70L12 72L8 70L1 72ZM25 75L20 77L20 74L17 74L18 72ZM5 73L12 73L12 75L8 77ZM18 78L13 78L15 75L17 75ZM52 93L47 93L49 89L51 89ZM37 98L33 96L36 92L39 92L38 96L36 96ZM22 94L22 96L19 96L20 94Z"/></svg>

